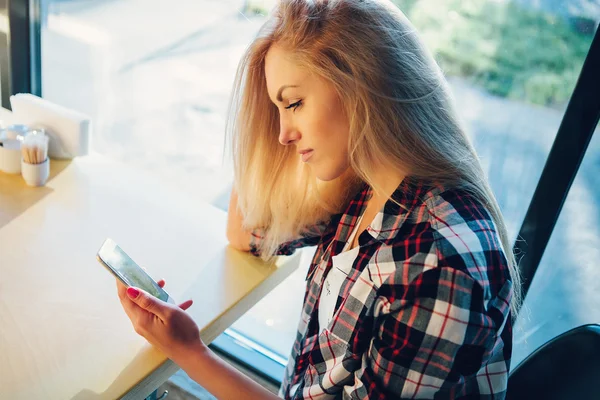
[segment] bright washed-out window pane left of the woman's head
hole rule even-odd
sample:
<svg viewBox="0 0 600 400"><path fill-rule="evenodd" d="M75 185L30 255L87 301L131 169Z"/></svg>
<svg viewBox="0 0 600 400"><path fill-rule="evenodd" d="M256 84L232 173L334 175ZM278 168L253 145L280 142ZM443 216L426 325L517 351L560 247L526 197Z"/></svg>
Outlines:
<svg viewBox="0 0 600 400"><path fill-rule="evenodd" d="M225 115L261 18L239 1L54 1L42 27L43 96L89 114L93 150L203 201L228 190Z"/></svg>

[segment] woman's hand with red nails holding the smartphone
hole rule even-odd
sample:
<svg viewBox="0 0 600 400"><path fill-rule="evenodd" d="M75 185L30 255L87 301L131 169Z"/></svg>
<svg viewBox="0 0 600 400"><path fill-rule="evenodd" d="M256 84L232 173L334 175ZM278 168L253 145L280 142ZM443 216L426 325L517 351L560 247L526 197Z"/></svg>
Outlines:
<svg viewBox="0 0 600 400"><path fill-rule="evenodd" d="M158 285L164 287L165 281L160 280ZM120 281L117 281L117 291L135 331L175 363L183 361L182 357L191 353L190 350L204 347L198 326L185 312L192 300L177 307L144 290L127 288Z"/></svg>

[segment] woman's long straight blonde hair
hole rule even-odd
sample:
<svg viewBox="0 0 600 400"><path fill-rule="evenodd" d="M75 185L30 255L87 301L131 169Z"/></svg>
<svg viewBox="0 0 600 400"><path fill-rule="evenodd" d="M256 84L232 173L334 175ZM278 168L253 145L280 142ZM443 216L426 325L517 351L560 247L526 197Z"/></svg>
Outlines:
<svg viewBox="0 0 600 400"><path fill-rule="evenodd" d="M275 43L337 91L349 120L349 162L357 179L320 182L299 163L293 146L278 142L278 111L264 70ZM265 257L303 228L341 212L359 182L381 192L373 177L383 162L463 189L486 207L508 259L516 315L520 277L500 208L440 68L392 3L280 1L239 64L229 116L238 206L246 229L264 229Z"/></svg>

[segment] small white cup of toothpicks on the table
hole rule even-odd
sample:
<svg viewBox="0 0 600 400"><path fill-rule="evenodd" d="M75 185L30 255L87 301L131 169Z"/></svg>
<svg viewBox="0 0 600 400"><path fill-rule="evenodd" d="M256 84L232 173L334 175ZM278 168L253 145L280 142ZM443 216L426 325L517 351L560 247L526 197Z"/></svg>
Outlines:
<svg viewBox="0 0 600 400"><path fill-rule="evenodd" d="M21 143L21 175L29 186L43 186L50 175L48 136L44 131L31 131Z"/></svg>

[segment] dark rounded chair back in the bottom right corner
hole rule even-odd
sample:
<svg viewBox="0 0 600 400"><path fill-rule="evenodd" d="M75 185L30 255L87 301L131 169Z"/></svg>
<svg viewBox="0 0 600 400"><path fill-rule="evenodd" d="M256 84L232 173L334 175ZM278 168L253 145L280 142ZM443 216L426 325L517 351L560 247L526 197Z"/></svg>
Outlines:
<svg viewBox="0 0 600 400"><path fill-rule="evenodd" d="M508 378L506 400L600 399L600 325L583 325L546 342Z"/></svg>

